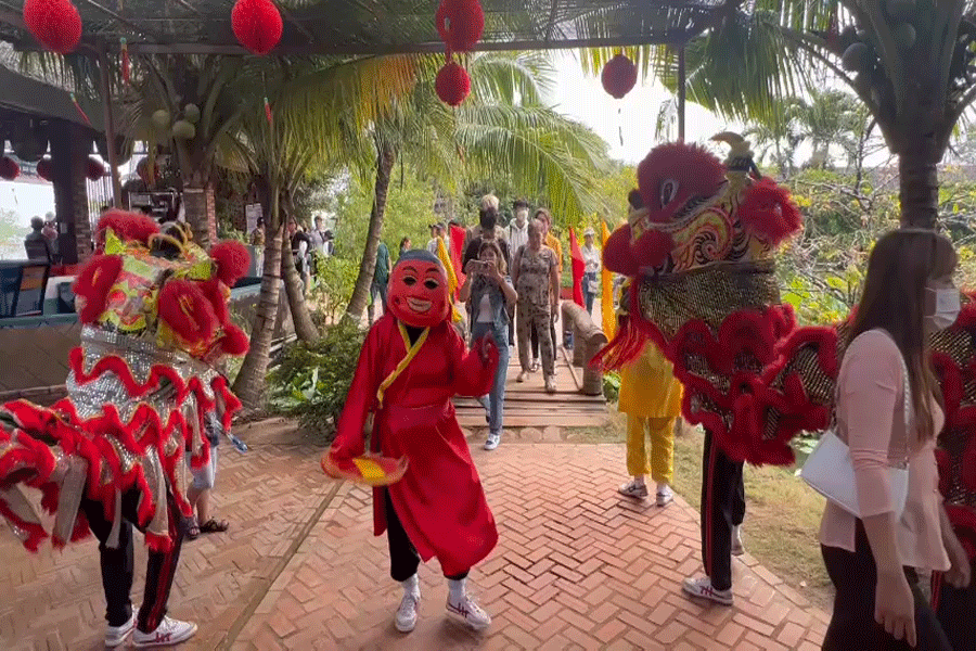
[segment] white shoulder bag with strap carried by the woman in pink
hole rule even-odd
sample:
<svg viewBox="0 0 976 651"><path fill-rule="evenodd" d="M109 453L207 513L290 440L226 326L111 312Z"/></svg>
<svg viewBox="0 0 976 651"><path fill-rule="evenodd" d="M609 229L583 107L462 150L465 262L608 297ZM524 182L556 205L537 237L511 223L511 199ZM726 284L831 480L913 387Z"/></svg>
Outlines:
<svg viewBox="0 0 976 651"><path fill-rule="evenodd" d="M901 358L901 356L899 356ZM901 373L904 379L904 429L911 435L911 385L908 367L901 358ZM820 443L804 463L800 476L813 490L834 502L855 518L861 518L858 485L855 480L850 448L837 436L836 418L834 425L823 433ZM908 500L908 445L906 444L904 468L888 467L888 481L891 486L891 502L895 505L895 516L900 519Z"/></svg>

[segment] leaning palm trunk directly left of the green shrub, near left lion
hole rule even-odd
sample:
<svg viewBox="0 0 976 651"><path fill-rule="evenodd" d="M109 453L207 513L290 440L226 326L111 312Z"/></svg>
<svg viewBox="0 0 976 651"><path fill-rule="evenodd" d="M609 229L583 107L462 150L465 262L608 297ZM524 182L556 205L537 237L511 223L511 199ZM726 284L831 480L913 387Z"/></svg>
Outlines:
<svg viewBox="0 0 976 651"><path fill-rule="evenodd" d="M279 218L278 192L272 191L264 205L270 204L265 226L265 268L261 293L258 296L251 348L244 357L241 371L234 380L234 394L248 407L257 407L265 392L265 375L271 361L271 339L278 319L279 288L281 286L281 242L284 225Z"/></svg>

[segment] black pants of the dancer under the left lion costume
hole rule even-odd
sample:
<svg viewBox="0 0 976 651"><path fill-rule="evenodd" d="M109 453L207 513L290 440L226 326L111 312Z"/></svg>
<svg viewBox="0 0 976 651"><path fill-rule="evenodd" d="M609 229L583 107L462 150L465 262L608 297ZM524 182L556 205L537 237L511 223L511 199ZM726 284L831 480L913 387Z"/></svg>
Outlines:
<svg viewBox="0 0 976 651"><path fill-rule="evenodd" d="M110 626L121 626L132 616L132 600L129 597L134 576L132 527L133 525L138 526L139 522L137 514L139 498L140 493L136 489L123 495L123 522L118 536L118 549L105 546L105 541L112 533L112 521L105 520L102 502L90 499L81 500L81 511L88 519L91 533L99 540L102 587L105 590L105 618ZM168 503L159 505L158 508L169 509L169 535L172 537L174 546L168 552L152 550L149 552L149 562L145 566L145 592L136 621L136 626L143 633L155 630L166 615L166 603L169 601L169 590L176 576L184 533L183 519L171 495L168 496Z"/></svg>

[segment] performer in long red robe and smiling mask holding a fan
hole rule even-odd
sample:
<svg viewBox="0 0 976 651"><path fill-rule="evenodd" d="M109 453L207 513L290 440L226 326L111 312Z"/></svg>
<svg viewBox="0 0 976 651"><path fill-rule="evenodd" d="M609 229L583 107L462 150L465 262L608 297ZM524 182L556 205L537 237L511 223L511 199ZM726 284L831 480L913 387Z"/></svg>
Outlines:
<svg viewBox="0 0 976 651"><path fill-rule="evenodd" d="M495 379L490 339L471 353L451 327L440 261L410 251L389 281L389 311L367 336L326 464L349 465L370 450L404 459L397 483L373 493L374 533L389 539L390 574L403 585L396 625L413 630L420 561L437 557L450 592L447 611L476 629L491 618L467 595L467 573L495 548L498 532L451 398L483 396Z"/></svg>

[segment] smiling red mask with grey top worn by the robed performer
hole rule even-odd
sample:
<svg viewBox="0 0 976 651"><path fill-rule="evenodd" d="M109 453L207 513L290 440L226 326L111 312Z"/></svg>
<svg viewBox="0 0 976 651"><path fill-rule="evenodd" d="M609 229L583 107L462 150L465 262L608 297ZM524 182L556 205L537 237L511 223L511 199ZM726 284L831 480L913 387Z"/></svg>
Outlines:
<svg viewBox="0 0 976 651"><path fill-rule="evenodd" d="M429 328L450 317L447 276L426 251L404 253L389 278L389 311L414 328Z"/></svg>

